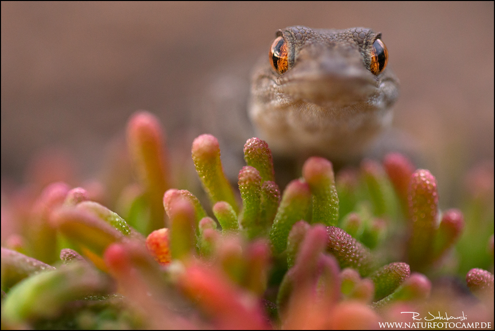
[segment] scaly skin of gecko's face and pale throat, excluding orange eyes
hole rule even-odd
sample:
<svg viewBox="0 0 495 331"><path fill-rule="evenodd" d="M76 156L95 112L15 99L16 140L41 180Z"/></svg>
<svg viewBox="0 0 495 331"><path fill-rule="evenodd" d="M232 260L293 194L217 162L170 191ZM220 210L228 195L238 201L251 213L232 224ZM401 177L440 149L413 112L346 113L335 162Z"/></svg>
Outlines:
<svg viewBox="0 0 495 331"><path fill-rule="evenodd" d="M381 34L296 26L277 36L287 43L288 70L277 73L266 55L255 67L248 109L258 137L275 154L360 156L390 124L398 96L390 69L370 71Z"/></svg>

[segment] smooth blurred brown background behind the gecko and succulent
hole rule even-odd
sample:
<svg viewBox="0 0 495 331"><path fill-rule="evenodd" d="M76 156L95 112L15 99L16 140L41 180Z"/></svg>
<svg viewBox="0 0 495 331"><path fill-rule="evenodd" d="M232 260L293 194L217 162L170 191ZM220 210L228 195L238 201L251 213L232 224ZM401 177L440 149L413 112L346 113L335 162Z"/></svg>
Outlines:
<svg viewBox="0 0 495 331"><path fill-rule="evenodd" d="M290 25L383 33L401 81L394 123L415 138L441 192L493 160L493 2L2 2L2 178L21 181L49 146L70 150L82 174L95 171L137 109L179 140L194 83L266 52Z"/></svg>

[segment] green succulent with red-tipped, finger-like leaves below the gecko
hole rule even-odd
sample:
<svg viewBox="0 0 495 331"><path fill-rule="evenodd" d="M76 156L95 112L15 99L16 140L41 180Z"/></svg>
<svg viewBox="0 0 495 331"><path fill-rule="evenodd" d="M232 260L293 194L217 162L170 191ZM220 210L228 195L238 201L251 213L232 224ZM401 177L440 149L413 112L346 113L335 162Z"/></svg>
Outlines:
<svg viewBox="0 0 495 331"><path fill-rule="evenodd" d="M153 115L127 145L81 187L3 183L2 328L375 329L401 312L493 327L492 167L442 210L442 183L399 154L337 174L312 157L281 189L252 138L232 185L202 135L201 189Z"/></svg>

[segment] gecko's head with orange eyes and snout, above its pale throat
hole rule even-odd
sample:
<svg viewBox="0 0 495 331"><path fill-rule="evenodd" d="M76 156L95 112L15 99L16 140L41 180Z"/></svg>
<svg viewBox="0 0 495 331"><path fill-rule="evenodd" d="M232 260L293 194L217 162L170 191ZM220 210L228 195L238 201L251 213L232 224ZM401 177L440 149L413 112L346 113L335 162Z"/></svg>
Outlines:
<svg viewBox="0 0 495 331"><path fill-rule="evenodd" d="M389 84L388 50L370 29L286 28L277 33L269 59L278 92L294 101L335 109L377 98L391 103L397 96L396 82Z"/></svg>

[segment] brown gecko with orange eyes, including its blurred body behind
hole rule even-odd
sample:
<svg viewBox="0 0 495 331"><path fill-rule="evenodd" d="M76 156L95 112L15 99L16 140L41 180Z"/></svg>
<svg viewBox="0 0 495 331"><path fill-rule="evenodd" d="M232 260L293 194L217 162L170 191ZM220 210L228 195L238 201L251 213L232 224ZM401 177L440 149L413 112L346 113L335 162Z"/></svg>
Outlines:
<svg viewBox="0 0 495 331"><path fill-rule="evenodd" d="M362 157L392 122L399 82L388 59L381 33L372 29L277 31L254 65L250 87L230 69L210 84L214 106L203 118L223 145L226 172L240 169L230 154L253 136L268 143L276 163Z"/></svg>

